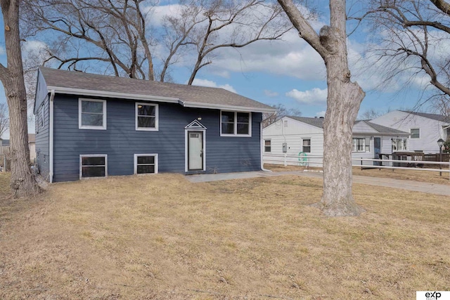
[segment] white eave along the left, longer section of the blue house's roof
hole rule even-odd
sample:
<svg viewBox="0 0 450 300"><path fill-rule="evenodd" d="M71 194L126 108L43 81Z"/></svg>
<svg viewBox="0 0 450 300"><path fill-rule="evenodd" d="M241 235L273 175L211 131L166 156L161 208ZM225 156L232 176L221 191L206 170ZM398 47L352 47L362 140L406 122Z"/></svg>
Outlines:
<svg viewBox="0 0 450 300"><path fill-rule="evenodd" d="M123 98L123 99L133 99L133 100L148 100L148 101L158 101L166 103L179 103L179 98L172 97L161 97L153 95L139 95L136 93L117 93L114 91L96 91L87 89L73 89L73 88L63 88L57 86L47 86L47 90L55 90L55 93L79 95L79 96L95 96L95 97L106 97L106 98Z"/></svg>

